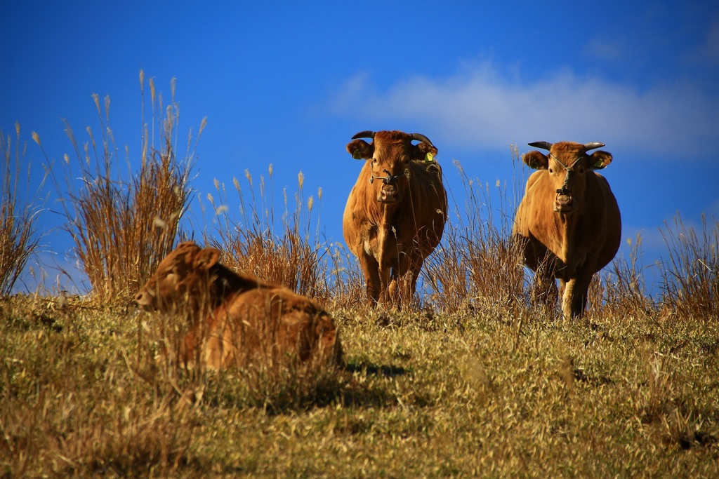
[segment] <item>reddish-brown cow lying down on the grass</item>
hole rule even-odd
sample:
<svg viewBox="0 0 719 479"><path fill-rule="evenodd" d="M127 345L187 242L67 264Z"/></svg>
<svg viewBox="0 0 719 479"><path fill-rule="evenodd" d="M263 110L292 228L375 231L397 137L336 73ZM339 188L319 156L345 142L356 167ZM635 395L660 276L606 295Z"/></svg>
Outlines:
<svg viewBox="0 0 719 479"><path fill-rule="evenodd" d="M137 293L147 311L188 315L180 361L219 369L257 359L342 362L332 318L310 299L217 262L220 252L180 243ZM196 347L200 350L196 350Z"/></svg>

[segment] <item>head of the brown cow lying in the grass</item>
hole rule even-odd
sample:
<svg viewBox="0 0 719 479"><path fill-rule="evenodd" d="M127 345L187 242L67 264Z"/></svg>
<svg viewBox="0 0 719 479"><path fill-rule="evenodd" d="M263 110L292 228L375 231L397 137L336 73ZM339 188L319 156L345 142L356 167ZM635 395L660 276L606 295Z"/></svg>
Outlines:
<svg viewBox="0 0 719 479"><path fill-rule="evenodd" d="M145 311L170 312L184 304L196 307L197 302L208 299L203 292L209 291L210 269L219 256L215 248L200 248L192 241L180 243L160 262L135 302Z"/></svg>

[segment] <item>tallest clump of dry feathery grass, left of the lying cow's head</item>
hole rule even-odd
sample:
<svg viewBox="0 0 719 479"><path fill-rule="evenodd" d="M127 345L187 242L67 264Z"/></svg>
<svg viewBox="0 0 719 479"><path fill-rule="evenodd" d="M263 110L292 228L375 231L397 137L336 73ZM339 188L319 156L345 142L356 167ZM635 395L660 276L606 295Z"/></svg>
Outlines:
<svg viewBox="0 0 719 479"><path fill-rule="evenodd" d="M197 139L193 146L190 132L185 157L175 157L179 108L175 103L174 80L172 99L166 108L162 105L162 95L155 96L152 79L149 84L152 128L148 128L143 117L139 172L130 178L120 173L116 165L119 149L109 127L110 98L106 97L101 106L97 95L93 95L93 99L100 138L96 139L88 127L88 141L81 147L66 122L65 132L73 144L75 168L79 172L73 170L67 155L62 163L65 185L55 176L55 169L52 170L52 181L63 198L65 228L73 238L75 254L88 276L91 291L100 302L128 302L134 297L150 271L173 249L180 219L190 200L189 175ZM142 71L140 85L144 108ZM204 126L203 120L198 137ZM42 148L40 137L35 134L34 138ZM130 171L130 165L137 164L137 160L130 160L127 148L125 154ZM73 182L75 178L79 178L79 182Z"/></svg>

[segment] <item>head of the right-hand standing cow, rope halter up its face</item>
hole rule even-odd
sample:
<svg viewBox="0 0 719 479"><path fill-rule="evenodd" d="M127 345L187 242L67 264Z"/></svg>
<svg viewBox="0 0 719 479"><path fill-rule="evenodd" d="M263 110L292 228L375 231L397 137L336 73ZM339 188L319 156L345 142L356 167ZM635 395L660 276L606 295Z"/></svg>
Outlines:
<svg viewBox="0 0 719 479"><path fill-rule="evenodd" d="M612 162L608 152L588 151L603 147L602 143L580 144L562 141L551 144L535 141L529 146L549 150L549 156L537 151L523 155L523 161L533 169L544 169L557 195L554 197L554 211L568 215L580 209L584 200L587 172L603 169Z"/></svg>

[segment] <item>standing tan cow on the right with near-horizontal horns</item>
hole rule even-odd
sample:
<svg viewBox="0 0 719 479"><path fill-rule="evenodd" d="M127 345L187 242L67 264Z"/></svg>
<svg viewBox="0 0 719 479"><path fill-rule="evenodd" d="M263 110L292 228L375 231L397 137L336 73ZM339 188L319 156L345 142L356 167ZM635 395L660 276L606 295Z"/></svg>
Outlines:
<svg viewBox="0 0 719 479"><path fill-rule="evenodd" d="M529 145L549 150L549 157L537 151L523 156L538 171L527 180L513 233L523 242L525 264L536 271L533 298L553 305L559 278L564 316L581 316L592 275L612 261L621 241L617 200L595 172L610 164L612 155L587 154L601 143Z"/></svg>

